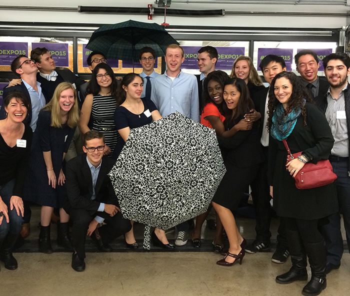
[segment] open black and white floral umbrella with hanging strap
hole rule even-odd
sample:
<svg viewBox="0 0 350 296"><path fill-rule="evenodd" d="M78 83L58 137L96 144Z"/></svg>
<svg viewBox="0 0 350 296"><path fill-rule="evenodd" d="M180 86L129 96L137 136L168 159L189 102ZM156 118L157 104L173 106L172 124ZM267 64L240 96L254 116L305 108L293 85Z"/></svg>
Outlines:
<svg viewBox="0 0 350 296"><path fill-rule="evenodd" d="M125 218L166 230L203 213L226 169L215 131L179 112L130 130L109 172Z"/></svg>

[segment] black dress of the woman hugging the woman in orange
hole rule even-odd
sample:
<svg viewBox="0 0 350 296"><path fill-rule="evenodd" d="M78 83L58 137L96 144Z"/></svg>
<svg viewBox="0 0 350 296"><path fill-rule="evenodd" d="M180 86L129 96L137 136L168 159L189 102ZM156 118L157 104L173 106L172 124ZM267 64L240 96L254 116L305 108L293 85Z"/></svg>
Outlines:
<svg viewBox="0 0 350 296"><path fill-rule="evenodd" d="M255 178L258 164L263 160L258 125L254 122L250 130L239 130L229 138L218 137L226 172L212 201L230 210L238 208L243 193Z"/></svg>

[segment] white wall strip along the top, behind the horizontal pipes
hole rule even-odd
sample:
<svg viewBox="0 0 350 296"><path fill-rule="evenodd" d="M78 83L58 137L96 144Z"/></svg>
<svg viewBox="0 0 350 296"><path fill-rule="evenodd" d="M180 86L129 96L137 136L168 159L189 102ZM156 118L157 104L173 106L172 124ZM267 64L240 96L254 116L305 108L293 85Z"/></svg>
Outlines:
<svg viewBox="0 0 350 296"><path fill-rule="evenodd" d="M13 4L12 4L13 3ZM74 7L78 5L86 6L119 6L119 7L147 7L148 3L154 0L16 0L14 2L0 1L1 21L29 21L29 22L64 22L64 23L116 23L128 19L144 22L162 23L163 16L153 16L152 20L147 20L146 15L126 15L126 14L96 14L79 13L76 11L36 11L3 9L1 5L21 6L44 6L44 7ZM156 6L155 6L156 7ZM274 12L327 12L346 13L348 6L344 5L252 5L252 4L226 4L226 3L171 3L170 9L218 9L226 11L274 11ZM249 26L249 27L306 27L306 28L340 28L347 25L347 19L342 17L326 16L258 16L258 15L225 15L213 17L177 17L168 16L166 22L170 25L200 25L200 26Z"/></svg>

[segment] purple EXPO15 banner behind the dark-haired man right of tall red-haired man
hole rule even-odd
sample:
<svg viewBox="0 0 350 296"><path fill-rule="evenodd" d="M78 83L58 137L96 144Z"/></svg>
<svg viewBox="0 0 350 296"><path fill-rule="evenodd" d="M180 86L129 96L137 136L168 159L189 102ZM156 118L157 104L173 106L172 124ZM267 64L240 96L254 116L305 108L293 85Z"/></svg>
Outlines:
<svg viewBox="0 0 350 296"><path fill-rule="evenodd" d="M202 46L182 46L184 50L183 69L198 69L198 50ZM218 53L216 70L231 70L233 62L237 57L244 55L244 47L215 47Z"/></svg>

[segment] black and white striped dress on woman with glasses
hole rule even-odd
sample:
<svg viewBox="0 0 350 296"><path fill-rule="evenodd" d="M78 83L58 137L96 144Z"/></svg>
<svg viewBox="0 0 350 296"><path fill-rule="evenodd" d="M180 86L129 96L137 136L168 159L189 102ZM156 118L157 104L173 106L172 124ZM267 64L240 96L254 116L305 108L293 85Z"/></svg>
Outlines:
<svg viewBox="0 0 350 296"><path fill-rule="evenodd" d="M120 135L114 125L113 115L115 107L116 101L111 95L97 94L93 96L91 110L92 129L104 134L105 143L109 146L111 152L113 152L116 142L120 139Z"/></svg>

